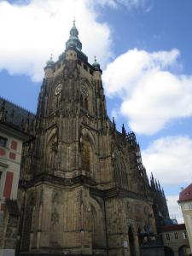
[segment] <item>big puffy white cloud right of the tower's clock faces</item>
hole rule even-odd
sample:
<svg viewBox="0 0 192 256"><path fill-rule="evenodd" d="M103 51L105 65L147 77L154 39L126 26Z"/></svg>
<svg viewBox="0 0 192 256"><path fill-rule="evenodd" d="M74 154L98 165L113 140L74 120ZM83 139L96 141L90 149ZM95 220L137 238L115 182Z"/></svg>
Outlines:
<svg viewBox="0 0 192 256"><path fill-rule="evenodd" d="M177 49L131 49L108 64L103 73L107 95L119 95L119 112L133 131L154 134L172 119L192 115L192 76L170 72L178 55Z"/></svg>

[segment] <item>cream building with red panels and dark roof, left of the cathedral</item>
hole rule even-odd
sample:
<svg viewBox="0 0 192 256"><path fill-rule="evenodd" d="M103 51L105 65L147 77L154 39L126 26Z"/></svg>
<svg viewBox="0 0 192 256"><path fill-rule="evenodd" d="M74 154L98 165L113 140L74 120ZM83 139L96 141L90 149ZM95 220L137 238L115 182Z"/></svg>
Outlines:
<svg viewBox="0 0 192 256"><path fill-rule="evenodd" d="M31 139L27 125L32 113L0 98L0 249L15 253L20 210L17 191L22 144Z"/></svg>

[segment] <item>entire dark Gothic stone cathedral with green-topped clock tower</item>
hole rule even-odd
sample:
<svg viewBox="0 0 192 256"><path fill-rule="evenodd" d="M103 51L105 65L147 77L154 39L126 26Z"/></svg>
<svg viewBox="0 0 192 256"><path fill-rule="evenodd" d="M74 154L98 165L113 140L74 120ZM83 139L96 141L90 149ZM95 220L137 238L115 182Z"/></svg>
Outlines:
<svg viewBox="0 0 192 256"><path fill-rule="evenodd" d="M102 70L73 24L44 67L20 173L20 254L140 255L156 234L148 177L133 132L108 118Z"/></svg>

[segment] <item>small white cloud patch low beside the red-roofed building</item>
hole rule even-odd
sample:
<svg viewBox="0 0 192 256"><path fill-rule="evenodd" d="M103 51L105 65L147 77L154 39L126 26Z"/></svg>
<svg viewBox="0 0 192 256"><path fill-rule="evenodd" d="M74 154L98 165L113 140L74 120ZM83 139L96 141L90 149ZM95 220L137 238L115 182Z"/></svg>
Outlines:
<svg viewBox="0 0 192 256"><path fill-rule="evenodd" d="M178 205L178 195L168 195L166 196L167 205L169 208L170 218L176 218L178 224L183 224L183 214L181 211L181 207Z"/></svg>

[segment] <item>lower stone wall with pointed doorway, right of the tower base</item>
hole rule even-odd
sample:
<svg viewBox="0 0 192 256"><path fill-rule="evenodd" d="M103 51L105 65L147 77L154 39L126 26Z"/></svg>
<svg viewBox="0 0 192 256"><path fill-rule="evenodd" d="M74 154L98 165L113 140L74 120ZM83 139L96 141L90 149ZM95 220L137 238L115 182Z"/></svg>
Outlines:
<svg viewBox="0 0 192 256"><path fill-rule="evenodd" d="M150 212L151 214L146 214ZM150 227L155 232L154 216L148 201L113 197L106 201L108 247L110 255L130 255L130 243L139 254L140 232ZM132 235L132 237L130 237ZM132 241L131 241L132 239ZM125 245L128 245L126 247Z"/></svg>

